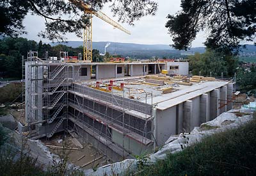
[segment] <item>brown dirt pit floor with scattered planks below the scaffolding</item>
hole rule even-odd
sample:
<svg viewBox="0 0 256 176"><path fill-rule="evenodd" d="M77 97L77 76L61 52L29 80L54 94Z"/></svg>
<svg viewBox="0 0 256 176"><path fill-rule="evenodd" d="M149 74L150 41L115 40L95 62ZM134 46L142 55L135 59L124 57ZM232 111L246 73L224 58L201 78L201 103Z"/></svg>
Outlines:
<svg viewBox="0 0 256 176"><path fill-rule="evenodd" d="M65 136L62 134L59 134L59 135L53 136L51 140L42 140L42 142L45 143L45 145L54 145L54 146L63 147L63 145L65 145L63 138L65 138ZM104 155L102 155L101 152L96 150L92 145L84 142L83 148L77 147L74 144L74 142L72 142L72 136L70 136L69 134L66 136L65 139L67 143L66 145L67 148L78 148L77 150L68 150L68 161L70 163L75 164L77 166L83 166L84 164L90 163L94 159L97 159L94 163L92 162L83 167L83 169L90 169L90 168L97 168L98 166L102 166L110 162ZM52 153L59 155L61 148L49 147L49 150ZM79 159L82 156L84 157L82 159ZM79 161L77 159L79 159Z"/></svg>

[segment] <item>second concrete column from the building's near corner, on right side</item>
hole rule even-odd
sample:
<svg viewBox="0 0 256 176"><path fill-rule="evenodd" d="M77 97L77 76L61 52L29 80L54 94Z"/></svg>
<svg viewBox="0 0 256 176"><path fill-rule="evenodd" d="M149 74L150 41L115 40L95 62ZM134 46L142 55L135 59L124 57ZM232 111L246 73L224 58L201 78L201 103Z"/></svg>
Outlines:
<svg viewBox="0 0 256 176"><path fill-rule="evenodd" d="M210 120L210 93L200 96L200 124Z"/></svg>

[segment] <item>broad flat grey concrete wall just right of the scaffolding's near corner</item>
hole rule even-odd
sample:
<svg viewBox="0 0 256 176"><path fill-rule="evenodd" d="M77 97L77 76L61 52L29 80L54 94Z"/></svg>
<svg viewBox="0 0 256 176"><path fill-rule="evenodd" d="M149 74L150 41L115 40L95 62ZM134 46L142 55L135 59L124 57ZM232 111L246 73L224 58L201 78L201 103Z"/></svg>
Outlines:
<svg viewBox="0 0 256 176"><path fill-rule="evenodd" d="M176 134L176 106L164 111L157 109L156 125L157 145L163 145L170 135Z"/></svg>

